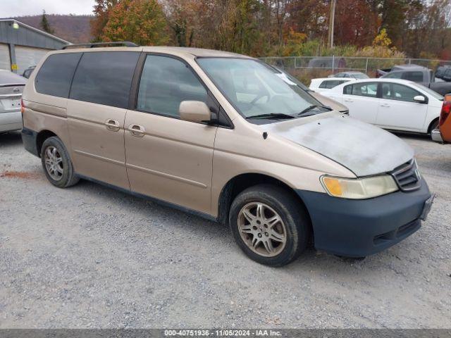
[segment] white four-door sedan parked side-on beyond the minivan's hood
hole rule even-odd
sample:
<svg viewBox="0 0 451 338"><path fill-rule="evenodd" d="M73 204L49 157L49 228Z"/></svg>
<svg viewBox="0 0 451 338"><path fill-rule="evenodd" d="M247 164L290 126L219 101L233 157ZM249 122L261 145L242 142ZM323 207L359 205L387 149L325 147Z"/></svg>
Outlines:
<svg viewBox="0 0 451 338"><path fill-rule="evenodd" d="M423 85L397 79L367 79L340 84L324 96L350 109L352 118L389 130L430 134L438 126L443 96Z"/></svg>

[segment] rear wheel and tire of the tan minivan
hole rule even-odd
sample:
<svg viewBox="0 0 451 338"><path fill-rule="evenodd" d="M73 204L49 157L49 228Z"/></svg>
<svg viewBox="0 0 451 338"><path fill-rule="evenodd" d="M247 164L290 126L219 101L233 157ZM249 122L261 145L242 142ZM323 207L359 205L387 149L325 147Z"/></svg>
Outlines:
<svg viewBox="0 0 451 338"><path fill-rule="evenodd" d="M66 147L58 137L49 137L41 147L41 162L47 180L58 188L71 187L80 178L75 175Z"/></svg>

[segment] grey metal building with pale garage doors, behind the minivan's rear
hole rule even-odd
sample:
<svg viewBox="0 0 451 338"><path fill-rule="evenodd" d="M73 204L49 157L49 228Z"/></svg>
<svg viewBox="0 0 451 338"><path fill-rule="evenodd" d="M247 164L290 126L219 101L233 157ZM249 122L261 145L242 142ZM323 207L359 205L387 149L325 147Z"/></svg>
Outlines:
<svg viewBox="0 0 451 338"><path fill-rule="evenodd" d="M0 69L22 74L48 51L70 44L14 19L0 19Z"/></svg>

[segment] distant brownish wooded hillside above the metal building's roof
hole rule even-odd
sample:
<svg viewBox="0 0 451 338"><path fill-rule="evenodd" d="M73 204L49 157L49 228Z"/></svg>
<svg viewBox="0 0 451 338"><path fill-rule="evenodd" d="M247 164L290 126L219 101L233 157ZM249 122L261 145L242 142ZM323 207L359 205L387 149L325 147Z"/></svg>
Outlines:
<svg viewBox="0 0 451 338"><path fill-rule="evenodd" d="M42 15L19 16L15 18L22 23L26 23L37 29L41 29L39 23ZM92 15L54 15L47 14L51 28L55 31L54 35L65 39L73 44L89 42L92 39L89 21Z"/></svg>

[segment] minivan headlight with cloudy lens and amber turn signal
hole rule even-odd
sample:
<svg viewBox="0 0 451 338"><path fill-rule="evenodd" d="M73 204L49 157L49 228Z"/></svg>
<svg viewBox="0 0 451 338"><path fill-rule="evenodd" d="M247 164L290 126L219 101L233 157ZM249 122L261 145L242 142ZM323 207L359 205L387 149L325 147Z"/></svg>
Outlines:
<svg viewBox="0 0 451 338"><path fill-rule="evenodd" d="M364 178L342 178L321 176L321 184L330 196L343 199L371 199L371 197L389 194L398 187L390 175Z"/></svg>

